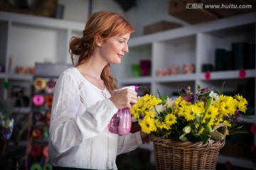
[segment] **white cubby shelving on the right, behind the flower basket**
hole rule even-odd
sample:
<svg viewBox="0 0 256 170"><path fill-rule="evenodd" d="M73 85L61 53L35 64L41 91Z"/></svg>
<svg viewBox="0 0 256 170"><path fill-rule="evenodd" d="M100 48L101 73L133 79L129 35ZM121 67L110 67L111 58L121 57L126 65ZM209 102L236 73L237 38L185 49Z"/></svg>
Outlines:
<svg viewBox="0 0 256 170"><path fill-rule="evenodd" d="M195 90L197 84L209 87L215 86L221 89L223 81L225 81L224 90L227 92L235 91L237 94L238 86L247 84L254 84L252 89L255 89L256 63L254 63L254 69L245 69L244 79L239 76L240 69L212 71L210 72L210 79L206 79L206 73L201 68L202 64L215 64L215 50L217 48L232 50L233 42L249 42L255 45L255 16L255 12L247 13L131 38L129 40L129 53L124 57L122 64L118 66L117 80L119 86L146 85L152 94L156 95L158 89L161 94L168 96L174 96L178 89L184 89L187 86L191 86L191 89ZM139 64L139 60L145 58L151 60L151 76L132 77L131 65ZM182 64L188 63L193 63L196 71L192 74L182 74ZM168 69L173 64L180 67L180 74L166 76L156 74L159 69ZM253 106L254 111L249 115L251 119L247 120L248 123L256 123L255 90L252 96L253 99L249 103L250 106ZM256 144L256 135L252 135L248 139L251 140L250 143ZM147 148L149 147L150 145L147 146ZM151 145L151 147L153 146ZM218 159L220 164L225 164L227 161L241 168L256 169L256 164L245 157L220 155Z"/></svg>

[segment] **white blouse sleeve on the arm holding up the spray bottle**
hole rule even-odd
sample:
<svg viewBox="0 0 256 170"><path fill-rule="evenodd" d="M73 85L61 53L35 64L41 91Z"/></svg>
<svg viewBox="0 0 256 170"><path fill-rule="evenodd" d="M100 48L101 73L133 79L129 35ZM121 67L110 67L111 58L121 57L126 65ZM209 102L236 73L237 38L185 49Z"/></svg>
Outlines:
<svg viewBox="0 0 256 170"><path fill-rule="evenodd" d="M59 153L79 145L85 138L98 135L117 112L108 98L92 105L89 103L90 106L85 104L80 94L81 84L76 82L69 74L63 74L55 86L50 138L53 148Z"/></svg>

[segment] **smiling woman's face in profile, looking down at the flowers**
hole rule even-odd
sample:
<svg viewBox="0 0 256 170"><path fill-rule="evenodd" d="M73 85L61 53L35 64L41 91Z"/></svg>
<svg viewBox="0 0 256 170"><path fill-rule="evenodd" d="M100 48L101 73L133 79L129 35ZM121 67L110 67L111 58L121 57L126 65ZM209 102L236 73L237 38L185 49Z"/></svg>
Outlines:
<svg viewBox="0 0 256 170"><path fill-rule="evenodd" d="M114 36L100 46L100 56L111 64L119 64L122 57L128 52L128 40L130 34Z"/></svg>

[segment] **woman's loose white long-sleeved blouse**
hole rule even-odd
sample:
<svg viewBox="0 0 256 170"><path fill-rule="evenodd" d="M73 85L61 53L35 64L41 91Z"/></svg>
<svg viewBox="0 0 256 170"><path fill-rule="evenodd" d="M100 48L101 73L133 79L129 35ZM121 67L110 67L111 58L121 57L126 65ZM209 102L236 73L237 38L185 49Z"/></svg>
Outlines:
<svg viewBox="0 0 256 170"><path fill-rule="evenodd" d="M60 75L49 130L48 152L53 166L117 169L117 154L142 144L139 132L122 136L109 132L107 125L117 113L110 96L107 89L90 84L75 67Z"/></svg>

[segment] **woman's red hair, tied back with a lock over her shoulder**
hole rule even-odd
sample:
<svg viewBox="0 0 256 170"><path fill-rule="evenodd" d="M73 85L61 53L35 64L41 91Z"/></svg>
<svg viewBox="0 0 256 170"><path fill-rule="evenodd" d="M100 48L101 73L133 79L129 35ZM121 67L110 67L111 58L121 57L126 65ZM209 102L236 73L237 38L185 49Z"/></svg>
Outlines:
<svg viewBox="0 0 256 170"><path fill-rule="evenodd" d="M69 51L71 60L74 64L73 55L78 55L78 64L87 62L92 52L95 50L95 38L97 35L100 35L100 38L104 42L113 36L133 32L134 28L118 13L111 11L93 13L85 25L85 30L82 31L82 37L73 37L70 39ZM100 77L112 94L114 89L117 89L117 83L110 73L110 63L102 70Z"/></svg>

